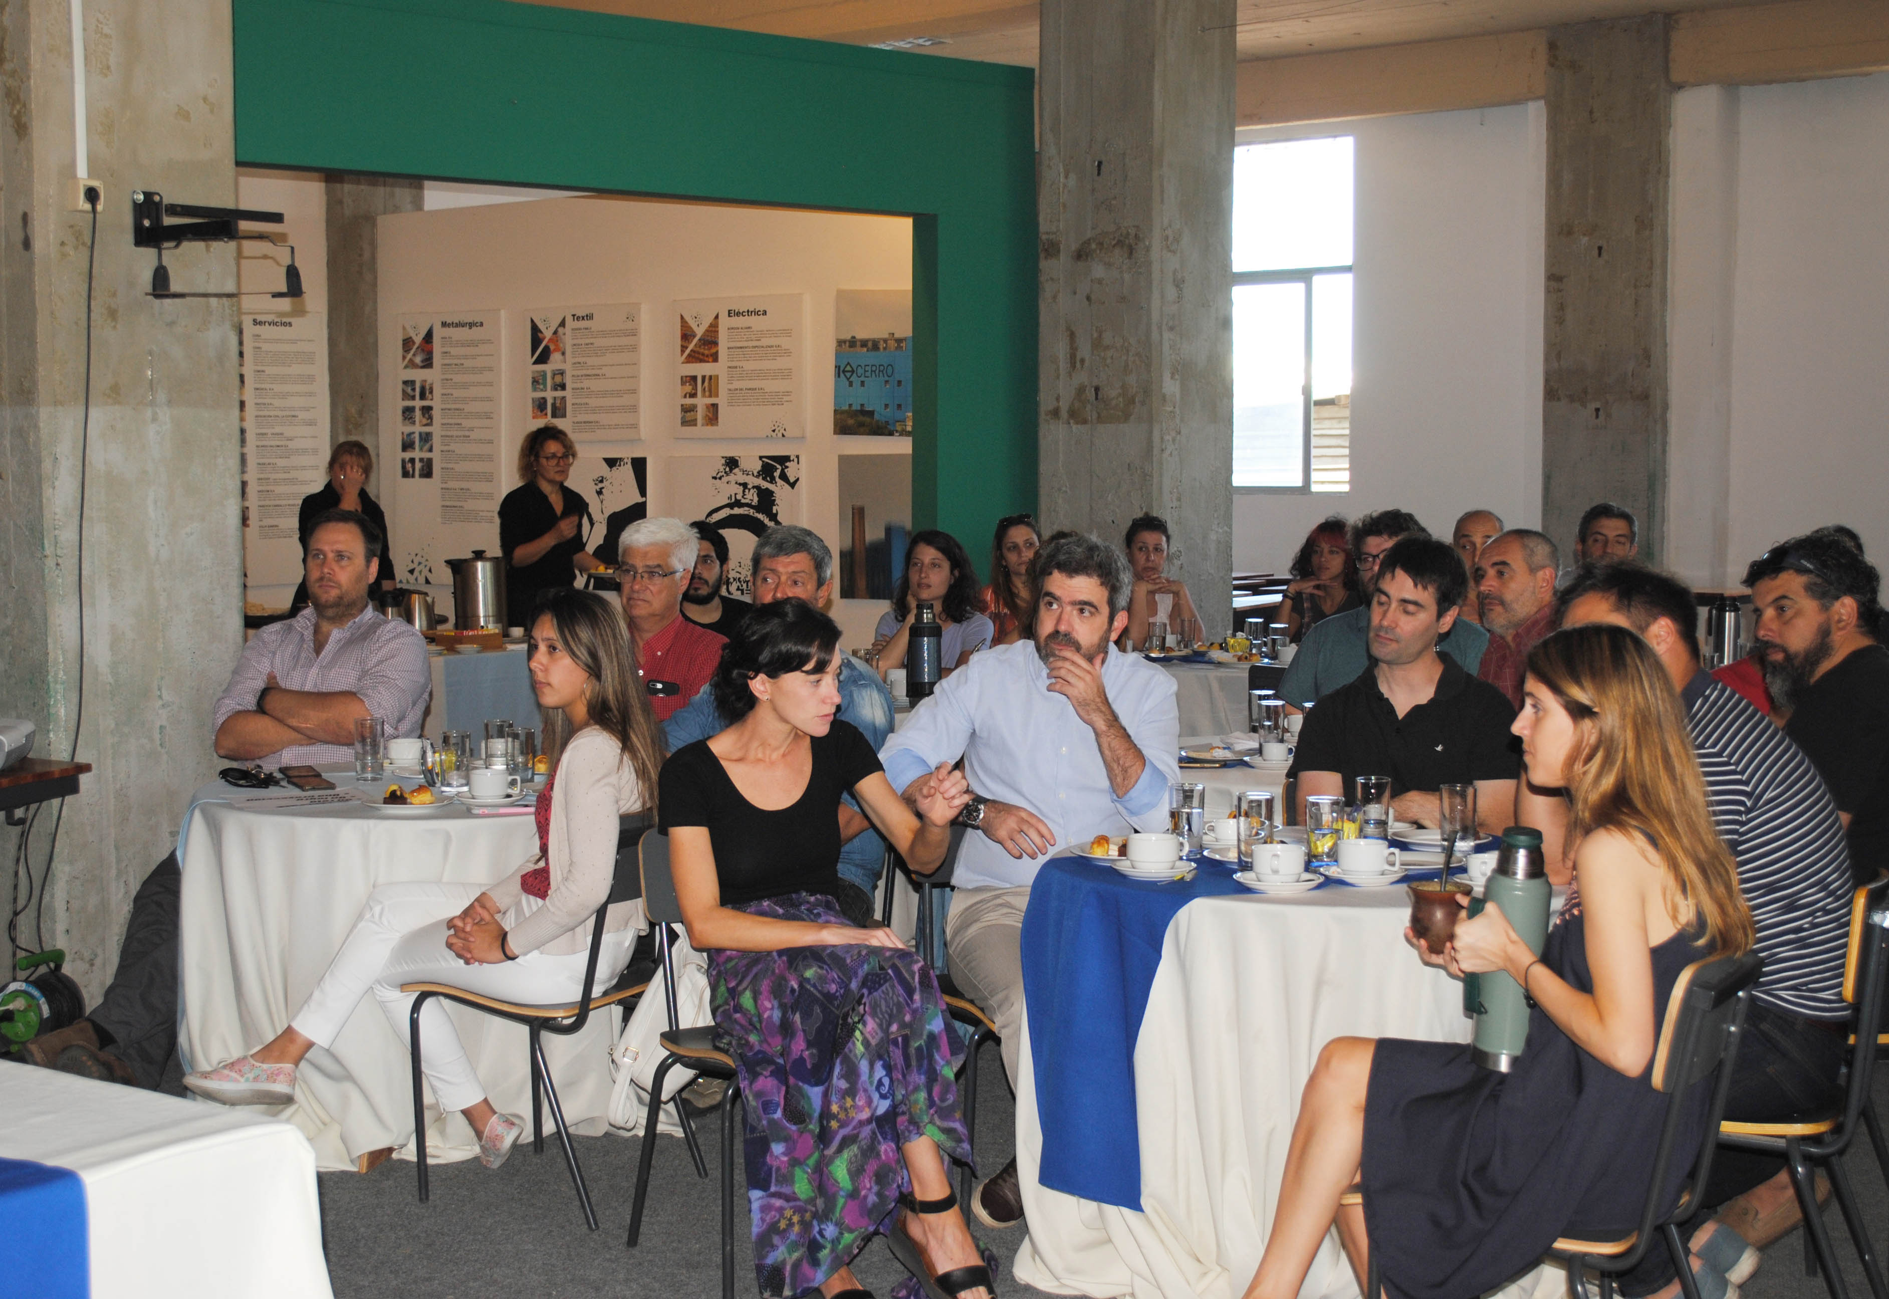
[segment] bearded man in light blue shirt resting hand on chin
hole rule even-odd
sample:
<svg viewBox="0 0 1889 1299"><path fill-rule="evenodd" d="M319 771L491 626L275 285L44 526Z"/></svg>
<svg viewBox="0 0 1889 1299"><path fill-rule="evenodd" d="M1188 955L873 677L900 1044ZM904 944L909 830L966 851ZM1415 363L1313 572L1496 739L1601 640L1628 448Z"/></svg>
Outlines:
<svg viewBox="0 0 1889 1299"><path fill-rule="evenodd" d="M997 1025L1013 1086L1018 940L1043 857L1096 835L1166 831L1181 778L1173 678L1113 648L1128 627L1128 561L1094 536L1054 538L1037 551L1037 591L1031 638L973 655L880 750L909 801L939 763L963 759L971 802L960 819L979 833L958 852L944 944L952 980ZM990 1227L1022 1220L1014 1159L977 1188L971 1212Z"/></svg>

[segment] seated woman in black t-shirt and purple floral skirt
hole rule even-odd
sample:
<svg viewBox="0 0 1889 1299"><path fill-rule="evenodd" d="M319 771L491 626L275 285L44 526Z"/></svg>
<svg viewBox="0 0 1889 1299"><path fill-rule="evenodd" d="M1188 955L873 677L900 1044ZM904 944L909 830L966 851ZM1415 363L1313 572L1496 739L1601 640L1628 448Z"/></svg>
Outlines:
<svg viewBox="0 0 1889 1299"><path fill-rule="evenodd" d="M912 816L865 736L835 719L837 646L839 627L807 602L757 606L712 683L739 721L661 774L676 899L748 1108L756 1276L763 1295L863 1293L848 1263L886 1231L933 1299L990 1295L996 1259L979 1261L944 1165L971 1148L937 980L890 929L856 929L835 903L842 793L927 874L969 787L939 767Z"/></svg>

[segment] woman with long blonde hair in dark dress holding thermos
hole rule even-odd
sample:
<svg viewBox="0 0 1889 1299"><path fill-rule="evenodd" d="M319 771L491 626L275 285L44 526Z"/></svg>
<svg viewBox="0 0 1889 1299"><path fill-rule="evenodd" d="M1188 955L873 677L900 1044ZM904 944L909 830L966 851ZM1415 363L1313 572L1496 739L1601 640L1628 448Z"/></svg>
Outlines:
<svg viewBox="0 0 1889 1299"><path fill-rule="evenodd" d="M1666 1097L1651 1065L1674 980L1753 942L1706 806L1679 697L1623 627L1574 627L1528 655L1528 780L1570 801L1575 882L1538 957L1500 906L1456 923L1451 974L1506 970L1534 999L1507 1074L1468 1044L1334 1038L1305 1082L1266 1256L1247 1295L1290 1299L1337 1220L1358 1274L1404 1299L1456 1299L1526 1271L1566 1227L1638 1225ZM1679 1150L1708 1135L1694 1089ZM1668 1197L1687 1161L1676 1159ZM1339 1210L1360 1184L1362 1208Z"/></svg>

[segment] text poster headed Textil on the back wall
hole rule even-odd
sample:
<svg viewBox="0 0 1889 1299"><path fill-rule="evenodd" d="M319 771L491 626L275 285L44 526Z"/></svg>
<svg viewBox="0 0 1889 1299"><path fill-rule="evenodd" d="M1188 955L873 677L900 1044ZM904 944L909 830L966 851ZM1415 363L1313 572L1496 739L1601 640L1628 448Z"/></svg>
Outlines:
<svg viewBox="0 0 1889 1299"><path fill-rule="evenodd" d="M527 427L561 425L587 442L642 438L642 306L561 306L527 313L518 404Z"/></svg>

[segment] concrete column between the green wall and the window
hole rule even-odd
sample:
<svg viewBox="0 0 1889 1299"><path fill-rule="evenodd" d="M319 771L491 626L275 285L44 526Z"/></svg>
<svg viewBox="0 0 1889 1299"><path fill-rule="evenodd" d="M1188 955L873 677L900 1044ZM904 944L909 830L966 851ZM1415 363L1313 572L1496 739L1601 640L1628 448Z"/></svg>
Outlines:
<svg viewBox="0 0 1889 1299"><path fill-rule="evenodd" d="M1234 0L1045 0L1045 529L1173 529L1209 634L1232 612Z"/></svg>

